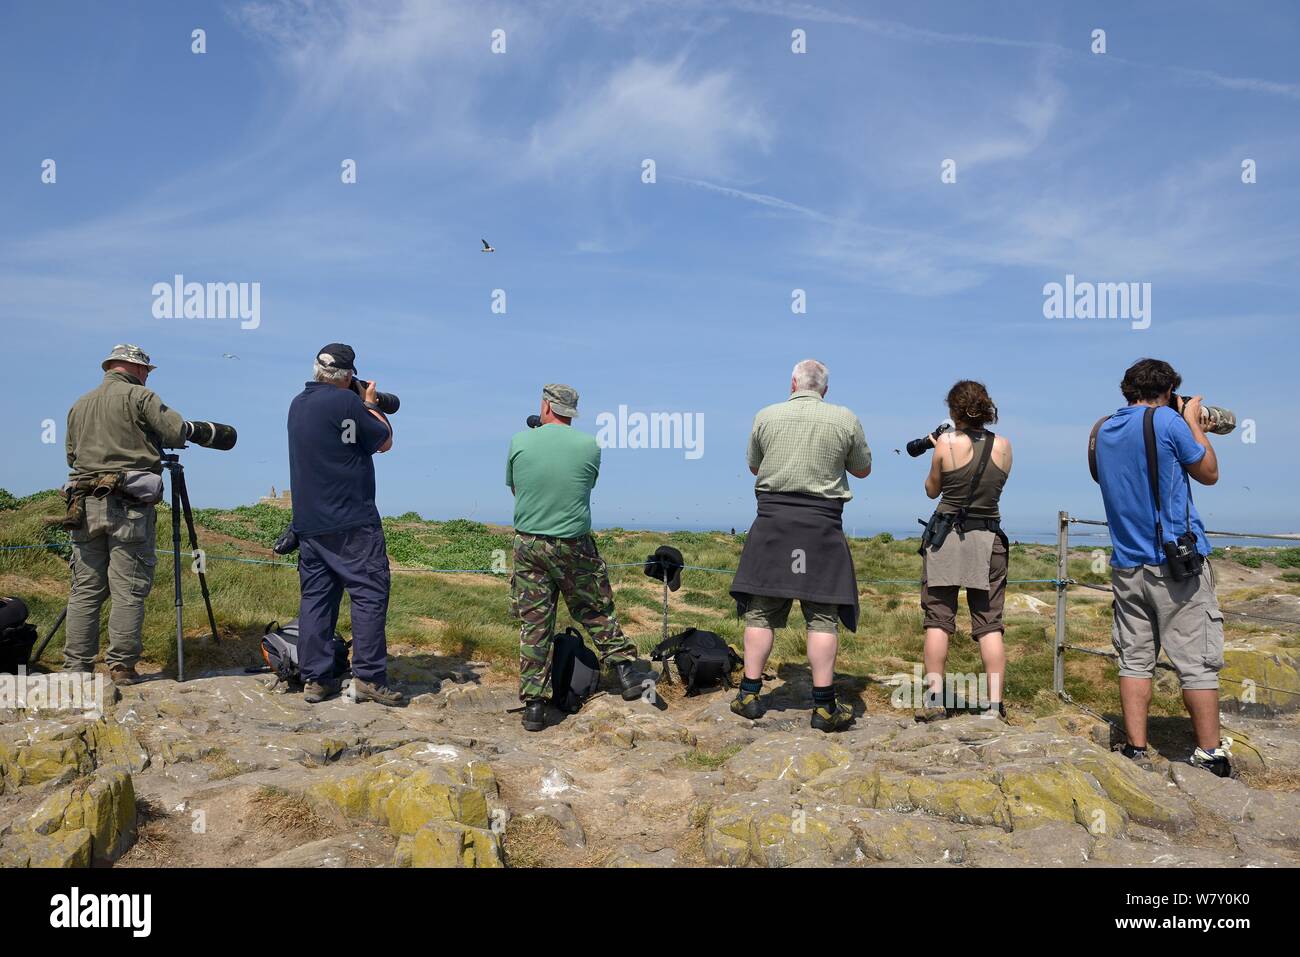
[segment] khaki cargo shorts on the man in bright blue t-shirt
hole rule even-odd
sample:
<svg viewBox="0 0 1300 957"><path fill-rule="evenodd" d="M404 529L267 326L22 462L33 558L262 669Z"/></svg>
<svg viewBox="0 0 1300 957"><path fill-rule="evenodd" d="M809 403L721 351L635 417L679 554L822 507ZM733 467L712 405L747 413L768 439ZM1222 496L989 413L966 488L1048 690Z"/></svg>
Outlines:
<svg viewBox="0 0 1300 957"><path fill-rule="evenodd" d="M1223 667L1223 612L1206 559L1200 579L1174 581L1167 566L1112 568L1115 623L1112 641L1121 677L1154 677L1165 649L1184 690L1218 688Z"/></svg>

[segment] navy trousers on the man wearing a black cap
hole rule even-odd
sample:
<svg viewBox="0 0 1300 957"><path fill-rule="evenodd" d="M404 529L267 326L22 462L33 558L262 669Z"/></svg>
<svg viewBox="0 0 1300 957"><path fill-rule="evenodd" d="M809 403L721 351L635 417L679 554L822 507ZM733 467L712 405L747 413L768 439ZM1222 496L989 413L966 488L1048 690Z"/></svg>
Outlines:
<svg viewBox="0 0 1300 957"><path fill-rule="evenodd" d="M352 675L387 684L389 554L382 525L303 538L298 554L298 668L304 681L337 677L330 638L338 606L352 599Z"/></svg>

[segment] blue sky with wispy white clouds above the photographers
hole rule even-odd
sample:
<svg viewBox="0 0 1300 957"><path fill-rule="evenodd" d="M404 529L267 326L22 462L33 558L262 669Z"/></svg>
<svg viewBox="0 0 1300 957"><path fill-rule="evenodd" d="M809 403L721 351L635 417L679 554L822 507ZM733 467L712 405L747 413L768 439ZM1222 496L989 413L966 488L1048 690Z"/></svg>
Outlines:
<svg viewBox="0 0 1300 957"><path fill-rule="evenodd" d="M1297 531L1297 44L1288 3L5 5L0 485L62 481L68 407L136 342L169 404L239 429L186 455L195 503L251 502L343 341L403 399L385 514L508 520L510 436L560 381L593 432L703 415L698 459L604 451L597 525L742 528L753 413L814 356L876 454L850 529L928 514L893 449L974 377L1028 534L1101 514L1088 429L1154 355L1256 423L1216 439L1208 524ZM155 319L177 273L260 282L260 325ZM1045 319L1066 274L1152 283L1150 328Z"/></svg>

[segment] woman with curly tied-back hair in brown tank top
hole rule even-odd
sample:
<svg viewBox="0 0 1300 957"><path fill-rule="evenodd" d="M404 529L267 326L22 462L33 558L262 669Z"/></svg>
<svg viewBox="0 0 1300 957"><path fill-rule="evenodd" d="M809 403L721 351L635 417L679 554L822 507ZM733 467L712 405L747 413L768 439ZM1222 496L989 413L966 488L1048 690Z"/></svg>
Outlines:
<svg viewBox="0 0 1300 957"><path fill-rule="evenodd" d="M926 698L918 720L942 718L948 640L957 631L957 593L966 589L971 638L979 642L988 688L980 694L985 716L1002 718L1002 602L1006 592L1008 541L998 501L1011 472L1011 443L988 430L997 406L980 382L962 380L948 391L953 429L931 437L935 447L926 494L939 506L922 538L920 605L926 628ZM967 706L971 702L966 702Z"/></svg>

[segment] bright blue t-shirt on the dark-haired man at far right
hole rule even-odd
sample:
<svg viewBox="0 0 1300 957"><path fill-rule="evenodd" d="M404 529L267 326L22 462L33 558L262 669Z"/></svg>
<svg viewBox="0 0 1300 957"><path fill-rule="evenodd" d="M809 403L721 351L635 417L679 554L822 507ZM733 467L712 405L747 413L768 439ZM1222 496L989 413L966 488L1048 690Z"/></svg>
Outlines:
<svg viewBox="0 0 1300 957"><path fill-rule="evenodd" d="M1097 433L1097 477L1101 499L1110 523L1114 551L1110 564L1136 568L1140 564L1164 564L1164 544L1156 542L1156 506L1147 477L1147 441L1143 416L1147 406L1126 406L1108 419ZM1156 462L1160 469L1160 521L1165 540L1173 541L1187 531L1187 508L1196 532L1196 550L1210 554L1205 527L1190 502L1187 465L1205 456L1205 449L1192 438L1192 429L1169 406L1156 410Z"/></svg>

